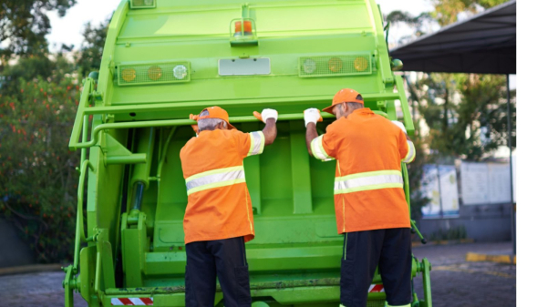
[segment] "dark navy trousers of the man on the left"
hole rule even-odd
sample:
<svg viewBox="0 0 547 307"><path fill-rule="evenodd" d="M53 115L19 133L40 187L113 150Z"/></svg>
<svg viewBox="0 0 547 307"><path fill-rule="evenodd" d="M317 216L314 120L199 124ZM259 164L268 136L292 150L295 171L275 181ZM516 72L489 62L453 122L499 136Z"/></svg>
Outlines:
<svg viewBox="0 0 547 307"><path fill-rule="evenodd" d="M226 307L250 307L249 267L243 237L186 244L186 306L212 307L216 277Z"/></svg>

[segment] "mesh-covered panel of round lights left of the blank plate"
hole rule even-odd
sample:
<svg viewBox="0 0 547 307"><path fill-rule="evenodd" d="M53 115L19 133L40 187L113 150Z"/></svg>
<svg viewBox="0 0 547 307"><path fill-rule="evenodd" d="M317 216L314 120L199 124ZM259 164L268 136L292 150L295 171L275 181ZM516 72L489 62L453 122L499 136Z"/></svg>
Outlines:
<svg viewBox="0 0 547 307"><path fill-rule="evenodd" d="M118 85L179 83L190 81L190 62L150 63L118 66Z"/></svg>

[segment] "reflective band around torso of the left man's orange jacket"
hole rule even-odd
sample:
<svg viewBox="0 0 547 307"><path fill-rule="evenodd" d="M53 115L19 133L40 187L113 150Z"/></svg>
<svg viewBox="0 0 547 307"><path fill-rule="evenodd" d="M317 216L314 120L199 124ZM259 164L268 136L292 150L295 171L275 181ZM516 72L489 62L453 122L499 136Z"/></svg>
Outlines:
<svg viewBox="0 0 547 307"><path fill-rule="evenodd" d="M245 171L243 166L225 169L213 169L193 175L186 179L186 192L199 192L204 189L213 189L231 186L245 182Z"/></svg>

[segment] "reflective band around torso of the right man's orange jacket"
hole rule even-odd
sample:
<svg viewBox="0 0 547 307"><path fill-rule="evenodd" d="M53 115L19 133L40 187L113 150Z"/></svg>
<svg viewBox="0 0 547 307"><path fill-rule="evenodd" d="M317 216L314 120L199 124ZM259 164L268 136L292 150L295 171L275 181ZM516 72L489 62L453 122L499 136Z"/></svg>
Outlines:
<svg viewBox="0 0 547 307"><path fill-rule="evenodd" d="M335 194L387 188L403 188L403 176L400 171L367 171L335 178Z"/></svg>

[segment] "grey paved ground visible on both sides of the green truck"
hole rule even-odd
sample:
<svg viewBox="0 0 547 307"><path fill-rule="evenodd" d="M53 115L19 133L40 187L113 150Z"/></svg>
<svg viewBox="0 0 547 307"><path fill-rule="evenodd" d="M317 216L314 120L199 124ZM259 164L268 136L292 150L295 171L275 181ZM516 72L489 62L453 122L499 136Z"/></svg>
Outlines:
<svg viewBox="0 0 547 307"><path fill-rule="evenodd" d="M509 307L516 305L516 266L490 262L466 262L468 251L501 253L511 243L470 243L423 246L414 249L418 258L432 262L431 283L435 307ZM0 307L63 306L63 271L0 276ZM415 280L418 296L421 278ZM75 294L75 306L87 306Z"/></svg>

